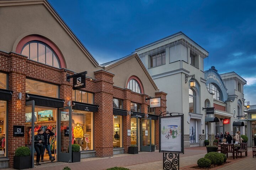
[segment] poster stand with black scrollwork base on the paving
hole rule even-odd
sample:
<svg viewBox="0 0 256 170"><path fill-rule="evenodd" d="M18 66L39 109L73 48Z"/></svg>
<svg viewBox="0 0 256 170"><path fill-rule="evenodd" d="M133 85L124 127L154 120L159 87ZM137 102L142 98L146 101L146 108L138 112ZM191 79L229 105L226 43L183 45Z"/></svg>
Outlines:
<svg viewBox="0 0 256 170"><path fill-rule="evenodd" d="M163 169L179 170L180 153L184 154L182 113L162 112L159 115L159 152L163 153Z"/></svg>

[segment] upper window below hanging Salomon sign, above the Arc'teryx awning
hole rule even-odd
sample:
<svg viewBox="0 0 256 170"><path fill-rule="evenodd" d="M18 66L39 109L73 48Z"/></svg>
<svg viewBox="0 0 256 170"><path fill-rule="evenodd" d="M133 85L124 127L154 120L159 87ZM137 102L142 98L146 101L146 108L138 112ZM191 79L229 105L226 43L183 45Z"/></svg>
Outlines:
<svg viewBox="0 0 256 170"><path fill-rule="evenodd" d="M94 94L81 90L73 90L73 101L94 104Z"/></svg>

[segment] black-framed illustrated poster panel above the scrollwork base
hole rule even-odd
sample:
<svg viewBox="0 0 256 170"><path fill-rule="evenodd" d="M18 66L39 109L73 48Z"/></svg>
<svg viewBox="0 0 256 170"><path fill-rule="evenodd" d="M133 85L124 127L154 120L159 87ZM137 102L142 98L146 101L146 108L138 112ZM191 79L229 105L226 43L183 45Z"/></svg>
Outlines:
<svg viewBox="0 0 256 170"><path fill-rule="evenodd" d="M183 152L182 115L161 117L160 152Z"/></svg>

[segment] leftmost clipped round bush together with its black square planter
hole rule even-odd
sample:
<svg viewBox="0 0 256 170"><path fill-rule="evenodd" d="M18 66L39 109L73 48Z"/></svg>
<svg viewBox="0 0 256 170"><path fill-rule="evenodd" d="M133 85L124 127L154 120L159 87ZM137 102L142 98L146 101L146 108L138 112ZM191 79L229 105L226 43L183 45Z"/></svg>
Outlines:
<svg viewBox="0 0 256 170"><path fill-rule="evenodd" d="M30 148L22 146L16 149L14 154L14 169L32 168L32 156Z"/></svg>

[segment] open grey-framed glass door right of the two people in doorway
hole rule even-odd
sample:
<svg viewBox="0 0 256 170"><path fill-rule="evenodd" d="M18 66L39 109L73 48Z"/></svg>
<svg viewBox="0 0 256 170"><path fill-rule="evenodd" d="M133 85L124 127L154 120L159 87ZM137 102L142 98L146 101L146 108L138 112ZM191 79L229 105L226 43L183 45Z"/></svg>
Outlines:
<svg viewBox="0 0 256 170"><path fill-rule="evenodd" d="M71 106L58 109L58 161L71 162L71 141L72 141L72 126L71 126Z"/></svg>

